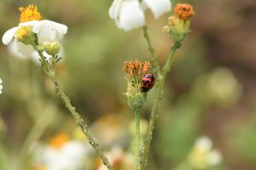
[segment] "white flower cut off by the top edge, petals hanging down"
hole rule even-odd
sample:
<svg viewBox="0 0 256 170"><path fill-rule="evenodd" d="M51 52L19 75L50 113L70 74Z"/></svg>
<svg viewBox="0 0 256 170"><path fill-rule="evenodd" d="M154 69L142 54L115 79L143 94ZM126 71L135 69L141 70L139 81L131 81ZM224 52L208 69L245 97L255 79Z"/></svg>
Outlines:
<svg viewBox="0 0 256 170"><path fill-rule="evenodd" d="M143 0L142 3L139 0L113 0L109 16L119 28L130 31L145 25L144 11L148 8L158 19L171 10L172 3L170 0Z"/></svg>

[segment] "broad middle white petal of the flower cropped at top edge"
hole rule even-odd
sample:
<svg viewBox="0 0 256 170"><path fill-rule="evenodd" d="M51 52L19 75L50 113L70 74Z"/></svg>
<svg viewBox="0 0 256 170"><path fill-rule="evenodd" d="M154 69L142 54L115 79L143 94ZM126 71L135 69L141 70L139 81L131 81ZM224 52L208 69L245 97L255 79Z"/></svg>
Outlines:
<svg viewBox="0 0 256 170"><path fill-rule="evenodd" d="M143 10L139 6L137 0L126 0L122 3L119 26L125 31L129 31L133 28L144 26L145 17Z"/></svg>

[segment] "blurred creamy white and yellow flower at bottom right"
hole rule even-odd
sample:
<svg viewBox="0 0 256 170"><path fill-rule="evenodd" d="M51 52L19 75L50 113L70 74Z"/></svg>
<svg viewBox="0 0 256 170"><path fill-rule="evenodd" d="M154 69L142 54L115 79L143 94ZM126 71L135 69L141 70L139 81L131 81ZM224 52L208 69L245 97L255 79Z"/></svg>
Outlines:
<svg viewBox="0 0 256 170"><path fill-rule="evenodd" d="M221 161L221 153L218 150L212 149L212 140L208 137L197 139L193 149L189 153L189 164L195 169L216 166Z"/></svg>

